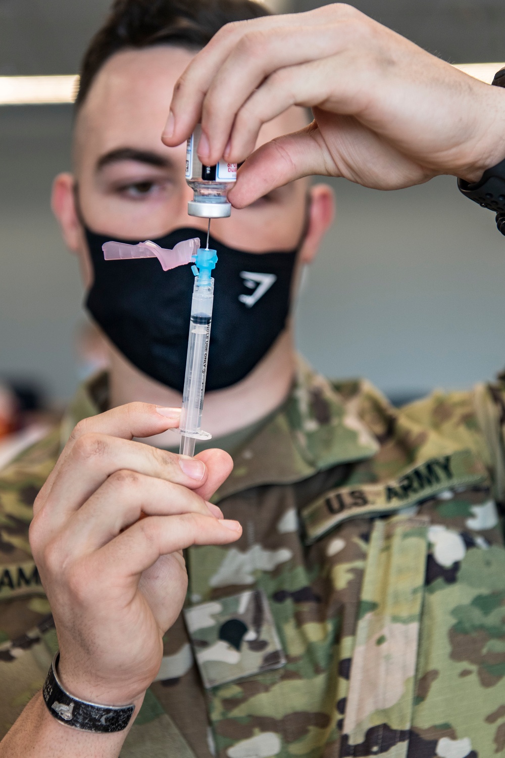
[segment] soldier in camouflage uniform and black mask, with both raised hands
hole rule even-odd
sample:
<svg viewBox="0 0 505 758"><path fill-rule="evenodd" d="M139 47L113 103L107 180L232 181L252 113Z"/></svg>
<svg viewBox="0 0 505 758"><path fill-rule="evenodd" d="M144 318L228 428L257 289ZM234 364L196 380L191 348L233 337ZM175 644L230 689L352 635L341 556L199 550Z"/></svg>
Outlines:
<svg viewBox="0 0 505 758"><path fill-rule="evenodd" d="M297 359L289 312L332 220L301 177L476 182L504 106L345 5L117 0L53 190L111 370L0 478L2 758L503 754L503 379L397 410ZM220 276L276 278L248 312L217 293L220 449L185 459L191 276L101 243L203 233L180 146L201 111L207 164L261 145L213 227Z"/></svg>

